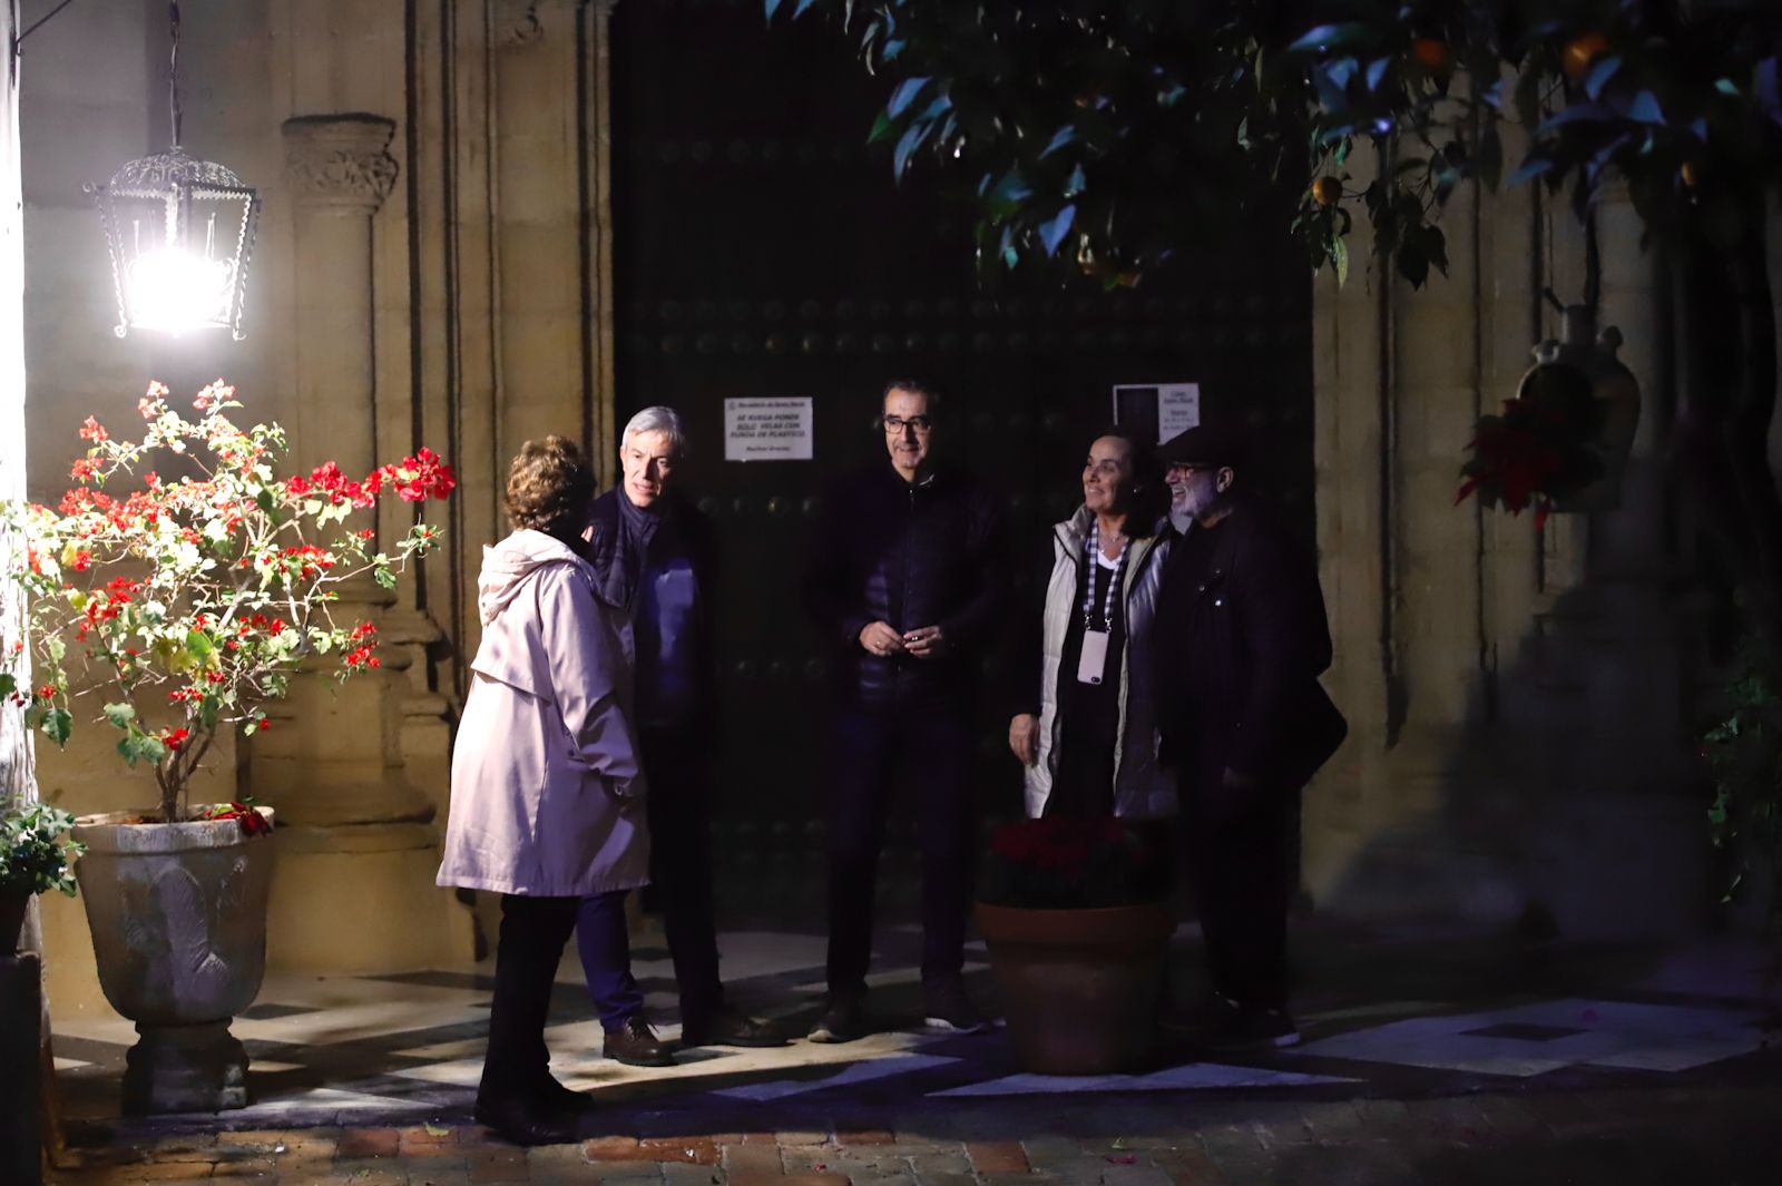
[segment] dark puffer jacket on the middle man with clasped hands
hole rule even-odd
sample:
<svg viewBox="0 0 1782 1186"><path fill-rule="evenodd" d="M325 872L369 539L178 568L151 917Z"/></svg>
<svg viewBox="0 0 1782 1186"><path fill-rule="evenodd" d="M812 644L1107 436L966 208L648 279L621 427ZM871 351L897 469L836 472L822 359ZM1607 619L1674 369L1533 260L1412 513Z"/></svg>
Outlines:
<svg viewBox="0 0 1782 1186"><path fill-rule="evenodd" d="M841 703L871 711L968 705L1003 602L1001 504L959 470L905 483L889 465L830 488L811 541L805 604L832 639ZM944 654L873 655L861 630L937 625Z"/></svg>

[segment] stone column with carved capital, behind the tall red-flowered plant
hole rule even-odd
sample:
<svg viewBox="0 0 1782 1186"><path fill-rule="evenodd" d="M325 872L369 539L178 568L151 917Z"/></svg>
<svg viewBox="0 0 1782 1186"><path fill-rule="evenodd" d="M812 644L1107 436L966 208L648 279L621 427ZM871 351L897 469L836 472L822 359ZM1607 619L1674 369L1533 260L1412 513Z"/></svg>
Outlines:
<svg viewBox="0 0 1782 1186"><path fill-rule="evenodd" d="M294 226L296 465L331 459L358 477L376 456L372 219L397 162L396 125L365 114L283 125ZM337 620L383 625L394 597L340 591ZM394 650L394 648L392 648ZM282 967L396 971L451 958L438 910L435 807L405 776L408 693L388 668L337 684L326 664L292 682L251 744L248 791L278 807L271 960ZM367 901L378 903L365 910ZM353 928L342 928L353 919Z"/></svg>

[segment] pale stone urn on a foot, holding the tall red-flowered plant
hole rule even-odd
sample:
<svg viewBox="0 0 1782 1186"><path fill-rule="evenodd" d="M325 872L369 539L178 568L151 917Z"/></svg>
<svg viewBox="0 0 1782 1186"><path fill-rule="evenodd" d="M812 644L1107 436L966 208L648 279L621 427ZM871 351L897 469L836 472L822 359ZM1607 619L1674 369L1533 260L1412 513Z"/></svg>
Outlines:
<svg viewBox="0 0 1782 1186"><path fill-rule="evenodd" d="M271 825L271 808L255 808ZM141 1040L123 1076L125 1115L248 1106L248 1052L230 1020L266 974L271 837L237 819L132 823L151 812L75 821L75 865L100 987Z"/></svg>

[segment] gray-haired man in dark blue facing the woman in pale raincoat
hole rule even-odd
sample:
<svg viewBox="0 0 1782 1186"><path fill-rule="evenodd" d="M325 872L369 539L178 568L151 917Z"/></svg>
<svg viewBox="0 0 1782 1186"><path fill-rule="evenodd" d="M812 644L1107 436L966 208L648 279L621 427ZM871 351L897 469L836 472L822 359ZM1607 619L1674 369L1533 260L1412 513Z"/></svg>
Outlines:
<svg viewBox="0 0 1782 1186"><path fill-rule="evenodd" d="M645 408L618 443L618 488L593 500L590 554L602 591L629 605L636 636L636 725L650 825L650 883L681 988L681 1045L782 1045L768 1020L738 1013L718 979L711 887L711 768L716 721L716 536L675 491L686 431L672 408ZM645 1033L608 1035L620 1061L663 1065ZM633 1049L636 1047L636 1049Z"/></svg>

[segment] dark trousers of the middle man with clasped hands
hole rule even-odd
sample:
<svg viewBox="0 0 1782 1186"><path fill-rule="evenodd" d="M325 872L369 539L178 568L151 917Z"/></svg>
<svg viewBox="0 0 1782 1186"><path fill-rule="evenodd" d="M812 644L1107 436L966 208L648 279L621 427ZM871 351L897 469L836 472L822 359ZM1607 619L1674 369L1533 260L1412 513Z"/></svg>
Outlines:
<svg viewBox="0 0 1782 1186"><path fill-rule="evenodd" d="M829 992L859 997L873 951L879 849L896 789L916 800L921 842L921 979L964 969L975 803L964 711L836 716L829 789Z"/></svg>

